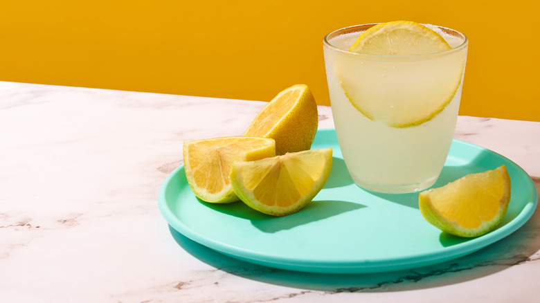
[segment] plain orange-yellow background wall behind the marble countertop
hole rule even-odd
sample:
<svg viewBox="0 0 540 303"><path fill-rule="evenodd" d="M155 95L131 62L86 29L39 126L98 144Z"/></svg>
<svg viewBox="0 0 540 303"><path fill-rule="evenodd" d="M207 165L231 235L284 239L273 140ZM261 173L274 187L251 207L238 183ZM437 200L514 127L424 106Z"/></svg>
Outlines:
<svg viewBox="0 0 540 303"><path fill-rule="evenodd" d="M305 83L328 105L323 37L408 19L469 37L461 115L540 121L532 3L3 1L0 80L267 101Z"/></svg>

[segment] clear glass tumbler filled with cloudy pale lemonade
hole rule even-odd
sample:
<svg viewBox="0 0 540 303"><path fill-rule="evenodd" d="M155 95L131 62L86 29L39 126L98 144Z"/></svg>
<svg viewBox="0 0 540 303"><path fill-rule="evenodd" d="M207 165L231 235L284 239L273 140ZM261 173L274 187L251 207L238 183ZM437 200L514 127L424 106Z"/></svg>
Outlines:
<svg viewBox="0 0 540 303"><path fill-rule="evenodd" d="M460 106L467 37L427 26L451 49L424 55L349 51L365 24L324 39L336 134L352 179L376 192L430 187L444 166Z"/></svg>

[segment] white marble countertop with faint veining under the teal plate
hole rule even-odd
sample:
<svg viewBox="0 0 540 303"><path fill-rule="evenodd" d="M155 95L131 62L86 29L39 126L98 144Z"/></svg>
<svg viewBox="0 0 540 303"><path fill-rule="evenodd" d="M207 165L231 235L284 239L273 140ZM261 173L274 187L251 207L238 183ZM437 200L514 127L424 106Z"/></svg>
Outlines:
<svg viewBox="0 0 540 303"><path fill-rule="evenodd" d="M505 239L392 273L249 264L170 230L159 187L185 140L241 135L266 104L0 82L2 302L532 302L540 211ZM319 107L319 127L333 127ZM460 116L456 136L540 187L540 122Z"/></svg>

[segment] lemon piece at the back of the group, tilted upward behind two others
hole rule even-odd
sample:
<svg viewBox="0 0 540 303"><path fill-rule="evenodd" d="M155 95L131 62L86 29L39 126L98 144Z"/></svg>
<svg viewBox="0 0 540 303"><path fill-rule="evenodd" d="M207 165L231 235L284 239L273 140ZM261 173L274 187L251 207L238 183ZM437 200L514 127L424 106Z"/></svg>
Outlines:
<svg viewBox="0 0 540 303"><path fill-rule="evenodd" d="M300 152L312 146L317 132L317 104L305 84L276 95L253 119L244 136L273 138L276 154Z"/></svg>

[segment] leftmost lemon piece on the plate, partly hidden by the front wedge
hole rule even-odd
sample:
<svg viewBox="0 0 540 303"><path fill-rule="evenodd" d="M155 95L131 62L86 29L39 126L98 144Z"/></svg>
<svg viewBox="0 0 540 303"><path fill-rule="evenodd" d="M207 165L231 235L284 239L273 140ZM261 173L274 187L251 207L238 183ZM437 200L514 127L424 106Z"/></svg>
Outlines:
<svg viewBox="0 0 540 303"><path fill-rule="evenodd" d="M270 138L222 137L183 143L183 163L188 183L199 199L211 203L238 201L229 176L234 161L258 160L276 155Z"/></svg>

